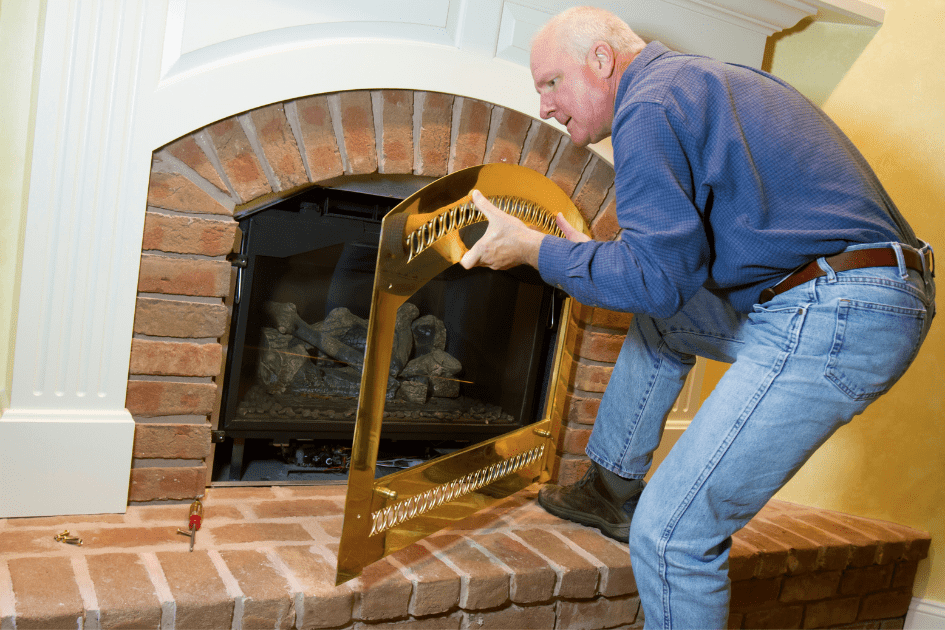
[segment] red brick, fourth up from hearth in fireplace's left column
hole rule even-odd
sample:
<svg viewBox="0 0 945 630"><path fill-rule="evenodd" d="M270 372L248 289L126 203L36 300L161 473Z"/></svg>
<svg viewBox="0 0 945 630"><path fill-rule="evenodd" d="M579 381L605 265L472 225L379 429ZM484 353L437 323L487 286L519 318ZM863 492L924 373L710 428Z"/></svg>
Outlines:
<svg viewBox="0 0 945 630"><path fill-rule="evenodd" d="M131 340L130 374L160 376L218 376L223 346L218 343L188 343Z"/></svg>

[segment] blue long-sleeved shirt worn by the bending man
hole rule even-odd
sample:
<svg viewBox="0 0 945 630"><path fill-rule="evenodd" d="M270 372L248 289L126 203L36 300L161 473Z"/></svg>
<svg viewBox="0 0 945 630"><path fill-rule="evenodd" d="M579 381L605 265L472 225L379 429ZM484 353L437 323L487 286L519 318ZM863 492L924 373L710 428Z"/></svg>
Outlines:
<svg viewBox="0 0 945 630"><path fill-rule="evenodd" d="M620 236L546 237L539 271L579 301L668 317L699 287L751 311L762 289L848 245L915 235L819 108L769 74L650 43L621 78Z"/></svg>

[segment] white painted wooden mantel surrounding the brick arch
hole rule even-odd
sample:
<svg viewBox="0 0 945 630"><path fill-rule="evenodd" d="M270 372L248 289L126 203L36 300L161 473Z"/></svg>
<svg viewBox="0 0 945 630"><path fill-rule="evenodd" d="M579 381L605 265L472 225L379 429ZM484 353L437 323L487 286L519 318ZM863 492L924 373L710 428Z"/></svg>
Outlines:
<svg viewBox="0 0 945 630"><path fill-rule="evenodd" d="M151 153L307 94L448 92L536 115L528 41L573 2L40 0L32 160L0 518L123 512L124 408ZM610 0L643 37L759 66L807 16L879 24L861 0ZM6 10L6 6L4 7ZM607 156L607 148L599 148Z"/></svg>

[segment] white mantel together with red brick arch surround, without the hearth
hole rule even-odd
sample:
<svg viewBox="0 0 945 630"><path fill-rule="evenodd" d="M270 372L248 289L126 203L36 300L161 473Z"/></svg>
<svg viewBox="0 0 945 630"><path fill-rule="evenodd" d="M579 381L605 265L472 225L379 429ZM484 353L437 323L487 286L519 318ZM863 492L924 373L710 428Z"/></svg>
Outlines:
<svg viewBox="0 0 945 630"><path fill-rule="evenodd" d="M28 131L17 144L28 164L13 204L22 290L11 292L21 295L0 460L16 492L3 515L121 512L204 491L227 350L225 256L247 205L339 178L506 161L559 183L595 237L616 233L608 147L578 150L522 113L538 111L527 42L546 8L316 4L92 0L4 18L38 35L20 42L35 71L17 83L14 122ZM823 0L619 11L644 38L756 67L768 36L806 16L882 19L866 3ZM371 63L352 68L352 41ZM559 447L569 478L626 321L578 308L565 324L580 410ZM75 478L84 483L65 482Z"/></svg>

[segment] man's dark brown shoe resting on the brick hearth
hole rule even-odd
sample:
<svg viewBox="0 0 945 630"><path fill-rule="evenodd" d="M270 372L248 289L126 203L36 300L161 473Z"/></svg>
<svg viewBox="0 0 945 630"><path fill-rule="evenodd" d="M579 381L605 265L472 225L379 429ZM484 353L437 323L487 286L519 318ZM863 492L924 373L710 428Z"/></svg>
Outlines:
<svg viewBox="0 0 945 630"><path fill-rule="evenodd" d="M538 503L559 518L596 527L605 536L627 542L633 511L645 485L642 479L625 479L591 462L577 483L542 487Z"/></svg>

